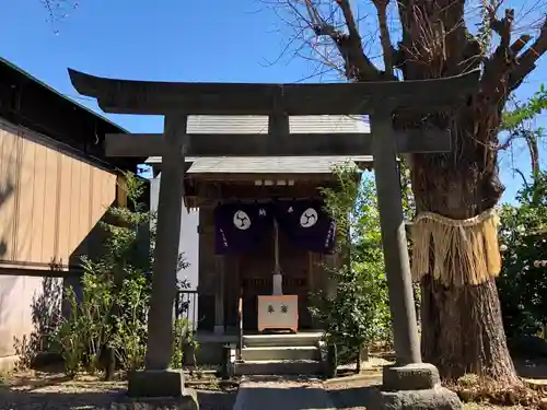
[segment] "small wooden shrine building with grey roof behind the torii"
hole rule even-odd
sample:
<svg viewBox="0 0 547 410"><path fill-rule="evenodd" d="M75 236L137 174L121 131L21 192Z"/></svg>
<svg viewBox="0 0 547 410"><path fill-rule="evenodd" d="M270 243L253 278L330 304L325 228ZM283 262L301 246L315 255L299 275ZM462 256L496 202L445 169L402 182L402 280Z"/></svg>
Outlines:
<svg viewBox="0 0 547 410"><path fill-rule="evenodd" d="M198 207L199 214L199 318L198 328L230 332L238 327L238 300L242 296L244 331L258 329L259 295L271 295L276 266L276 234L260 241L249 251L218 255L214 211L223 203L267 204L278 200L321 200L321 187L336 184L334 165L344 157L254 157L198 159L191 163L185 200ZM370 159L356 159L363 163ZM298 296L298 329L314 324L307 295L328 286L322 262L334 263L336 254L305 250L281 230L277 234L283 295Z"/></svg>

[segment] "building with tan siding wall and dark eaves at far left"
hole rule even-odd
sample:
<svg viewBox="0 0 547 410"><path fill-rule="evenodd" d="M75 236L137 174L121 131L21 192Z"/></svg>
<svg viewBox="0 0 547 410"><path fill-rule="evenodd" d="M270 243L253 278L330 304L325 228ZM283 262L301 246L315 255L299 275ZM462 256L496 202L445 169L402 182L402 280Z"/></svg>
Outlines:
<svg viewBox="0 0 547 410"><path fill-rule="evenodd" d="M144 160L106 159L108 132L126 131L0 59L0 367L34 329L43 278L78 283L98 221L124 201L120 172Z"/></svg>

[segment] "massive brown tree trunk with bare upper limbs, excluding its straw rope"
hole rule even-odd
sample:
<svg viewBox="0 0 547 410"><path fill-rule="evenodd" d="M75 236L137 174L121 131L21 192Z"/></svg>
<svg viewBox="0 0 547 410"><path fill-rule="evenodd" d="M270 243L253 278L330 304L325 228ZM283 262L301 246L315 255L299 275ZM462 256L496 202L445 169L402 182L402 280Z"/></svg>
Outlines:
<svg viewBox="0 0 547 410"><path fill-rule="evenodd" d="M523 51L532 37L522 35L511 44L512 10L499 19L497 8L485 3L485 27L474 36L465 26L465 0L398 0L401 39L394 48L386 23L389 0L373 0L384 54L384 68L380 70L363 52L350 1L334 1L347 32L331 23L330 13L322 16L322 2L305 0L304 3L310 26L317 36L331 38L351 81L396 81L394 69L405 80L451 77L481 69L477 92L457 112L427 113L410 107L411 110L395 113L394 127L404 130L433 126L452 131L451 153L411 155L409 165L418 214L432 212L450 220L466 220L494 207L503 194L497 166L501 115L510 93L547 51L547 20L540 35ZM492 32L499 36L499 43L488 55ZM451 269L450 273L461 278L470 277L457 266ZM519 384L493 278L479 285L450 285L437 282L431 273L421 281L423 359L438 365L445 379L473 372Z"/></svg>

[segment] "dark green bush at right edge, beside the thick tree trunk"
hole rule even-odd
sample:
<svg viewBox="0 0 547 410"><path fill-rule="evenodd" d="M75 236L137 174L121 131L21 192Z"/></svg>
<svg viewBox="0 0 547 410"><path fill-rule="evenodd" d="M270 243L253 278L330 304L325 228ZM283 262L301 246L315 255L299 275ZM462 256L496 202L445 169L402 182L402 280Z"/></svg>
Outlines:
<svg viewBox="0 0 547 410"><path fill-rule="evenodd" d="M547 325L547 174L519 192L519 206L501 209L503 267L498 279L504 328L510 337L536 335Z"/></svg>

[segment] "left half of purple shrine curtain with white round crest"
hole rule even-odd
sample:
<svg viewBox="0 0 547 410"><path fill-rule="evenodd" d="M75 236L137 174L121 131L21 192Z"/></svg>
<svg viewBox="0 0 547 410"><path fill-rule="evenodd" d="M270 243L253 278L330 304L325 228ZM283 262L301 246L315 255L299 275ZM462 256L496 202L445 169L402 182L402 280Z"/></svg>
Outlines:
<svg viewBox="0 0 547 410"><path fill-rule="evenodd" d="M271 237L274 214L264 203L225 203L214 210L214 244L218 255L251 251Z"/></svg>

